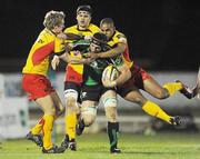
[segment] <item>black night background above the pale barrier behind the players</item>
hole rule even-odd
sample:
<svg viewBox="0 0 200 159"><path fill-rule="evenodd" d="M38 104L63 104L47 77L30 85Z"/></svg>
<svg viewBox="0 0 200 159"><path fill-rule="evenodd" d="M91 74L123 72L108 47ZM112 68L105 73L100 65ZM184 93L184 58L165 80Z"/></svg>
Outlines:
<svg viewBox="0 0 200 159"><path fill-rule="evenodd" d="M64 11L70 27L79 4L93 8L94 24L112 18L128 38L131 58L143 68L198 70L200 6L192 0L6 0L0 6L0 71L21 71L47 11Z"/></svg>

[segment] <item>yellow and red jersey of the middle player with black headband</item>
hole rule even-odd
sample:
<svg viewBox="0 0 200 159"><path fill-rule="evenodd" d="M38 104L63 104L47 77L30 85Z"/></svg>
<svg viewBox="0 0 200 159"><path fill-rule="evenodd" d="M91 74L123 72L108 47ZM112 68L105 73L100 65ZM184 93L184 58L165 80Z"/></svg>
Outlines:
<svg viewBox="0 0 200 159"><path fill-rule="evenodd" d="M79 30L78 26L69 27L64 30L66 33L74 33L74 34L82 34L84 37L92 37L96 32L99 32L100 29L90 23L87 30ZM67 42L74 42L74 40L67 40ZM81 57L81 54L76 54L73 51L70 54ZM68 64L67 68L67 77L66 81L73 81L73 82L82 82L82 73L83 73L83 64ZM73 74L73 77L71 77ZM76 76L76 77L74 77ZM71 78L70 78L71 77Z"/></svg>

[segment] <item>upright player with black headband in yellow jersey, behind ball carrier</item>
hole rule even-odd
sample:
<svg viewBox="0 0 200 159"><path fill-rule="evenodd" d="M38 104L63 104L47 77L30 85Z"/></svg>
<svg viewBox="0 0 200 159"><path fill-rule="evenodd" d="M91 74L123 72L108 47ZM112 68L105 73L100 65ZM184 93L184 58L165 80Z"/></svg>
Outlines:
<svg viewBox="0 0 200 159"><path fill-rule="evenodd" d="M92 9L90 6L79 6L77 9L77 24L69 27L64 30L66 34L73 34L77 38L71 40L66 40L68 46L70 46L70 56L82 58L82 51L90 44L91 37L99 32L100 29L91 23ZM68 36L62 37L67 39ZM80 53L81 52L81 53ZM64 60L63 56L59 59ZM52 66L59 63L58 58L53 58ZM54 67L53 67L54 68ZM70 148L76 150L76 125L77 125L77 107L78 98L80 96L80 87L82 85L82 63L68 63L66 68L66 79L64 79L64 98L66 98L66 137L61 143L62 148Z"/></svg>

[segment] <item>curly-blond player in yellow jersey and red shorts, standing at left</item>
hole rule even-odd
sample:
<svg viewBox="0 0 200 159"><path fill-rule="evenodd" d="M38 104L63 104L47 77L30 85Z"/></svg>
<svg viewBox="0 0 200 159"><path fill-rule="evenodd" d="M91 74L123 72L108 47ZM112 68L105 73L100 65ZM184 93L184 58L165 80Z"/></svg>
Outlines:
<svg viewBox="0 0 200 159"><path fill-rule="evenodd" d="M53 122L64 107L47 77L49 57L52 53L64 51L63 40L58 39L64 27L64 13L59 11L47 12L43 21L44 29L33 43L27 63L22 69L22 89L29 93L29 99L34 100L43 110L39 123L27 135L29 140L43 147L43 153L62 152L51 141ZM43 143L40 131L43 130Z"/></svg>

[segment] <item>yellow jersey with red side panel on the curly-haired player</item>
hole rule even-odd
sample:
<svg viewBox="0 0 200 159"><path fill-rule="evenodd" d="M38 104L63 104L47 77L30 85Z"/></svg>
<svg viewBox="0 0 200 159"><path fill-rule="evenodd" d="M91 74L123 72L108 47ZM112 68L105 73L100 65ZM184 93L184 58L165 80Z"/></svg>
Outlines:
<svg viewBox="0 0 200 159"><path fill-rule="evenodd" d="M64 51L63 41L54 33L43 29L32 46L22 73L34 73L47 76L49 69L49 56Z"/></svg>

